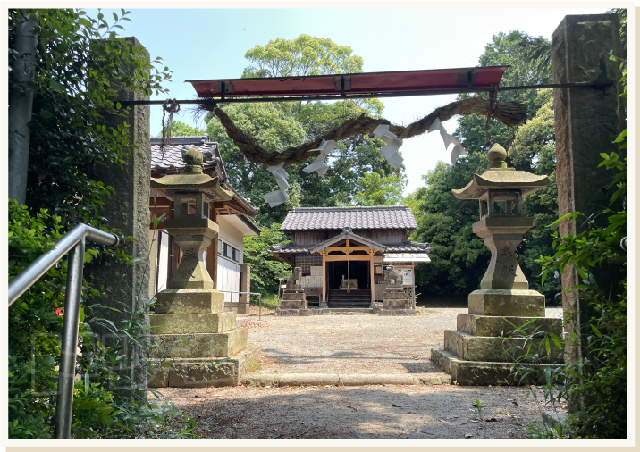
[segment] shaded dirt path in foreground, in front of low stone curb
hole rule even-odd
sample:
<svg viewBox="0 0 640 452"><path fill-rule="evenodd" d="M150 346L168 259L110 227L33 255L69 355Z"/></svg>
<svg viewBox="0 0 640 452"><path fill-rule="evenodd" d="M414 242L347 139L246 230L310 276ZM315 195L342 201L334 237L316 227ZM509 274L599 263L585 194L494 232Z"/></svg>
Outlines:
<svg viewBox="0 0 640 452"><path fill-rule="evenodd" d="M509 439L525 438L527 424L541 423L540 407L522 388L236 386L163 392L197 416L197 433L205 438Z"/></svg>

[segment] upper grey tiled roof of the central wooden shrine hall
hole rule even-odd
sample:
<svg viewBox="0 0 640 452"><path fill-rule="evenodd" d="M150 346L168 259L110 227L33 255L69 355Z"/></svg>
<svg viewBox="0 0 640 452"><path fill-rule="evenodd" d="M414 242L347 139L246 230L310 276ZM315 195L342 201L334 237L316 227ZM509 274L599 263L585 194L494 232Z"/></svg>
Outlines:
<svg viewBox="0 0 640 452"><path fill-rule="evenodd" d="M374 207L295 207L280 230L416 229L406 205Z"/></svg>

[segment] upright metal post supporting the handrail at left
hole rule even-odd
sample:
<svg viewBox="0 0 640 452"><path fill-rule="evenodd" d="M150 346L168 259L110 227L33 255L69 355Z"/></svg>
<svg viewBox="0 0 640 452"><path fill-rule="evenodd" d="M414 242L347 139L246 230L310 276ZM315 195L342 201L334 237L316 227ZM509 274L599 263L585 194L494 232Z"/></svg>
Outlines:
<svg viewBox="0 0 640 452"><path fill-rule="evenodd" d="M54 438L71 438L73 385L80 326L80 296L84 267L84 238L69 254L67 291L64 301L63 345L58 371L58 400L55 406Z"/></svg>

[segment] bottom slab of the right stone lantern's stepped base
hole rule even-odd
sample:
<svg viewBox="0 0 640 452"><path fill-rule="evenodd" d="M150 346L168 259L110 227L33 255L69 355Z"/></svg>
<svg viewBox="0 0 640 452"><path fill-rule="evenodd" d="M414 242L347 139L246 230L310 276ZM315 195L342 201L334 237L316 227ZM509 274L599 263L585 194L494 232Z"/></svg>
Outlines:
<svg viewBox="0 0 640 452"><path fill-rule="evenodd" d="M538 378L520 381L513 372L511 363L481 363L477 361L464 361L445 350L431 350L431 362L440 367L442 371L451 373L451 380L461 386L487 386L509 385L520 386L526 384L540 384L544 381L543 371L545 367L557 364L529 364L538 371Z"/></svg>

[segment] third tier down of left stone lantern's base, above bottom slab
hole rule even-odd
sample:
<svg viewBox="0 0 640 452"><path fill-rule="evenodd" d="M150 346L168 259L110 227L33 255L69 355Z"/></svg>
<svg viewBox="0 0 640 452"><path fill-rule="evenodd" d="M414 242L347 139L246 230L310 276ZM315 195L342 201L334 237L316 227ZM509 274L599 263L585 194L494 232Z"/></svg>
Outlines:
<svg viewBox="0 0 640 452"><path fill-rule="evenodd" d="M207 358L232 356L248 346L246 328L234 328L222 333L158 334L159 347L151 350L152 358Z"/></svg>

